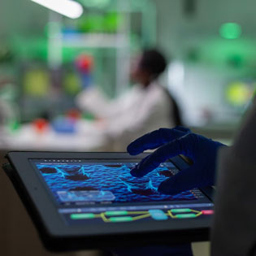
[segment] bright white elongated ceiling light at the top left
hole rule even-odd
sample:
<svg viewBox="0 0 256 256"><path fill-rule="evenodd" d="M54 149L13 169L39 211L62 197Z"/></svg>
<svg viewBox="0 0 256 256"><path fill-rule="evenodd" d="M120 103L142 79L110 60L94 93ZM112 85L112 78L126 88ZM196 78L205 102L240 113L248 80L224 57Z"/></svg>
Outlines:
<svg viewBox="0 0 256 256"><path fill-rule="evenodd" d="M72 0L31 0L37 2L43 7L56 11L61 15L65 15L68 18L76 19L83 14L83 7L80 3Z"/></svg>

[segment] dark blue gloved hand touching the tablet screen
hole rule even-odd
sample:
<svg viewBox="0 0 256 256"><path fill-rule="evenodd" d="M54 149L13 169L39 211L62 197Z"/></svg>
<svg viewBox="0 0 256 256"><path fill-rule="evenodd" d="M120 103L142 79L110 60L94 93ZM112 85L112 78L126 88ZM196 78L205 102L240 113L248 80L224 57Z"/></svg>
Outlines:
<svg viewBox="0 0 256 256"><path fill-rule="evenodd" d="M136 177L145 176L168 158L183 154L193 160L193 165L164 180L159 185L158 192L172 195L213 185L217 150L221 146L222 143L192 133L188 128L160 128L128 145L128 153L132 155L158 148L132 168L131 174Z"/></svg>

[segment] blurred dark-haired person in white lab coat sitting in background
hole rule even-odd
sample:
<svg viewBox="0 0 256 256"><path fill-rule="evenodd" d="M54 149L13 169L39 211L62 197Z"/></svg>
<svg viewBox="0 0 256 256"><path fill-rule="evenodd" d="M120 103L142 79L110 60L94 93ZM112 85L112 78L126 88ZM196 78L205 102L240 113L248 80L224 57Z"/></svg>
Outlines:
<svg viewBox="0 0 256 256"><path fill-rule="evenodd" d="M78 106L102 120L102 132L114 142L115 150L125 150L130 141L145 132L180 125L176 102L158 84L166 66L158 50L145 50L132 68L132 80L137 84L121 97L107 101L95 89L80 93Z"/></svg>

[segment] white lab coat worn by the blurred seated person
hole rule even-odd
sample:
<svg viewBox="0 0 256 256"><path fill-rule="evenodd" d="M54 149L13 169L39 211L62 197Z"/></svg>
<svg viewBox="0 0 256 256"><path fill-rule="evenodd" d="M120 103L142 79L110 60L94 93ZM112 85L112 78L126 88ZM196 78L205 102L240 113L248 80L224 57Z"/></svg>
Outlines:
<svg viewBox="0 0 256 256"><path fill-rule="evenodd" d="M128 143L146 132L174 126L170 98L155 82L146 89L133 86L112 101L107 101L98 90L90 89L80 93L77 104L106 120L102 132L115 143L115 150L125 150Z"/></svg>

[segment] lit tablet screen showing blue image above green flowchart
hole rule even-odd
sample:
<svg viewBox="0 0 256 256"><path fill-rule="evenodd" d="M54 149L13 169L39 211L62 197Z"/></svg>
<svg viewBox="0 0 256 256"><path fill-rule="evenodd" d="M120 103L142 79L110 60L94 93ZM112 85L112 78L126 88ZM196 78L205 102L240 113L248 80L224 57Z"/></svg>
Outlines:
<svg viewBox="0 0 256 256"><path fill-rule="evenodd" d="M134 159L30 161L68 224L145 221L149 216L184 219L213 213L212 202L199 189L175 196L158 193L158 185L179 171L171 162L136 178L130 175L137 164Z"/></svg>

